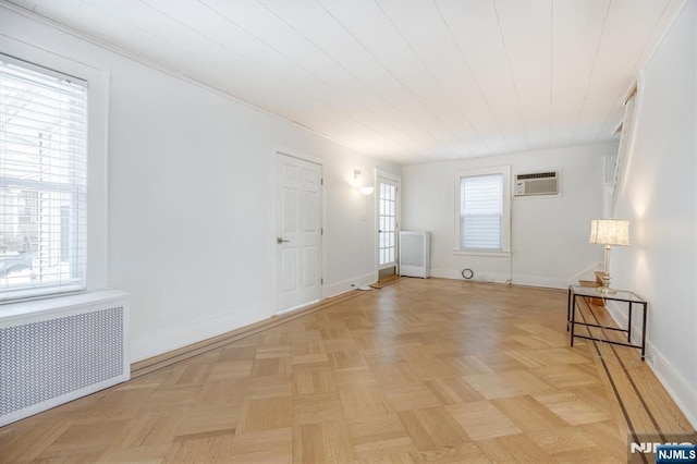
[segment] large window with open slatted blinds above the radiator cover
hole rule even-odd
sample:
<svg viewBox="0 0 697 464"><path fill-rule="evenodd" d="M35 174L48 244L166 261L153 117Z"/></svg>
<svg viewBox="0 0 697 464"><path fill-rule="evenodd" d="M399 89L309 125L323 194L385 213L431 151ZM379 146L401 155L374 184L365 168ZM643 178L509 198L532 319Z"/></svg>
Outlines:
<svg viewBox="0 0 697 464"><path fill-rule="evenodd" d="M0 301L84 289L86 83L0 56Z"/></svg>

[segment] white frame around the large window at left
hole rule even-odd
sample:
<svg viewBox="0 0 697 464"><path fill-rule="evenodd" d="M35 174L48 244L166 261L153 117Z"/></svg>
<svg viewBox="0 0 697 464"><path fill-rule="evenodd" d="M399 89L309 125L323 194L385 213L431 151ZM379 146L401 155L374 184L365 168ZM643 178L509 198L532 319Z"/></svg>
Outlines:
<svg viewBox="0 0 697 464"><path fill-rule="evenodd" d="M84 62L16 40L3 39L3 60L46 73L75 76L86 83L87 97L87 181L86 260L82 285L46 285L4 289L0 303L21 303L61 297L107 289L108 285L108 114L109 73ZM0 317L2 314L0 314Z"/></svg>

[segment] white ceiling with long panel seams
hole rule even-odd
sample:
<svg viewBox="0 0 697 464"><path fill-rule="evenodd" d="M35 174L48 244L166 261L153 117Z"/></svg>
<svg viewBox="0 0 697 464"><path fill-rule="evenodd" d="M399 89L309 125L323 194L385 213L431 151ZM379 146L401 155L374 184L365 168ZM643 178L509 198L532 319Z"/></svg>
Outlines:
<svg viewBox="0 0 697 464"><path fill-rule="evenodd" d="M11 0L400 163L612 139L683 0Z"/></svg>

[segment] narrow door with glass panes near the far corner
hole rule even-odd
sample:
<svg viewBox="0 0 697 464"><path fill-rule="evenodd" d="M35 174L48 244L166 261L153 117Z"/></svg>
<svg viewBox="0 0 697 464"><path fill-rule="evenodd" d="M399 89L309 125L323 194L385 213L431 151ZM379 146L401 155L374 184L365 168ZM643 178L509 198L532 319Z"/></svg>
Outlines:
<svg viewBox="0 0 697 464"><path fill-rule="evenodd" d="M378 176L378 269L396 264L398 183Z"/></svg>

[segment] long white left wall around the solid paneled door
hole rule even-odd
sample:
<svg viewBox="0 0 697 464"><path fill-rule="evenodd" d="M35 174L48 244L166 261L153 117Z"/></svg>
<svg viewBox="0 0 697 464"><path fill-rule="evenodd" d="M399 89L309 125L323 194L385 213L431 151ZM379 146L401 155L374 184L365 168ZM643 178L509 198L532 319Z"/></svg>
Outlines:
<svg viewBox="0 0 697 464"><path fill-rule="evenodd" d="M276 314L274 148L325 170L325 296L375 280L362 156L276 117L0 7L3 29L110 75L109 285L132 295L132 361ZM101 182L101 180L90 180Z"/></svg>

